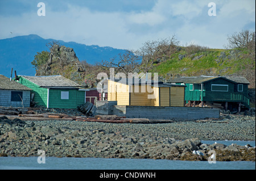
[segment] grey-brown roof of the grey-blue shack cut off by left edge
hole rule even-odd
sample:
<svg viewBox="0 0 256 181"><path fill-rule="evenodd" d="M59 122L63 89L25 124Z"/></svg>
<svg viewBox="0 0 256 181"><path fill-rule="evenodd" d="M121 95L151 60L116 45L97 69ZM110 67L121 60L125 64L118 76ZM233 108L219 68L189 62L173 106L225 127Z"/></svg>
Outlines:
<svg viewBox="0 0 256 181"><path fill-rule="evenodd" d="M10 81L10 78L5 77L4 75L0 75L0 82L0 90L32 90L18 82Z"/></svg>

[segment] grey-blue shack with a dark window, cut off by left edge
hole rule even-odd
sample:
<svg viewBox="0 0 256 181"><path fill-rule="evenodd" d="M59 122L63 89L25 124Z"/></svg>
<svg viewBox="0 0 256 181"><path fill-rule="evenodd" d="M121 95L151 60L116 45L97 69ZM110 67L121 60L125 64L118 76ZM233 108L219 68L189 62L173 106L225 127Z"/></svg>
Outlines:
<svg viewBox="0 0 256 181"><path fill-rule="evenodd" d="M0 106L30 107L30 88L0 75Z"/></svg>

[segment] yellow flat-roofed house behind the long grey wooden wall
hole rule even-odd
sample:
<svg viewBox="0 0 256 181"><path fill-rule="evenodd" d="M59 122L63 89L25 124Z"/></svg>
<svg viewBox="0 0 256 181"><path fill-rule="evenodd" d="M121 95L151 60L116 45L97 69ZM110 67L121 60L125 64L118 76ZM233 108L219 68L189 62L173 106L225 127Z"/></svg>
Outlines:
<svg viewBox="0 0 256 181"><path fill-rule="evenodd" d="M184 85L108 79L108 100L117 101L118 106L184 107L184 92Z"/></svg>

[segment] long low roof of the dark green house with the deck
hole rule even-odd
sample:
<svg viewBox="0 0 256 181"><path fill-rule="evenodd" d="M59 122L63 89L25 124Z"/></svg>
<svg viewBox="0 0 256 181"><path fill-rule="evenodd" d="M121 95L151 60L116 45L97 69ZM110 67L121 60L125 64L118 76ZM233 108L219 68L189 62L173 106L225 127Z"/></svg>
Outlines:
<svg viewBox="0 0 256 181"><path fill-rule="evenodd" d="M245 77L211 77L211 76L203 76L200 77L179 77L172 79L168 82L172 83L205 83L209 81L213 81L214 79L226 79L227 81L233 82L233 83L243 83L243 84L250 84L249 81Z"/></svg>

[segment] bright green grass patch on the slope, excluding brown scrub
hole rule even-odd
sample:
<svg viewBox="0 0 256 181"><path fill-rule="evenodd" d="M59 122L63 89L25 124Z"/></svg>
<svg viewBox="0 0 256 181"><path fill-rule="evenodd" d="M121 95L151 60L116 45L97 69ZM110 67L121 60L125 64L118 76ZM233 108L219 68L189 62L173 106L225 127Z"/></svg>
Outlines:
<svg viewBox="0 0 256 181"><path fill-rule="evenodd" d="M225 52L226 57L220 58L221 52ZM238 73L244 62L248 60L241 59L240 56L230 58L230 50L226 49L209 49L204 52L187 54L185 50L181 50L172 54L169 60L154 64L154 68L150 72L158 72L159 76L168 78L170 74L183 76L199 76L199 75L222 75L228 76ZM179 60L179 54L187 54L185 58ZM193 58L203 55L198 60ZM255 64L255 62L254 62Z"/></svg>

